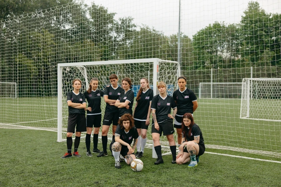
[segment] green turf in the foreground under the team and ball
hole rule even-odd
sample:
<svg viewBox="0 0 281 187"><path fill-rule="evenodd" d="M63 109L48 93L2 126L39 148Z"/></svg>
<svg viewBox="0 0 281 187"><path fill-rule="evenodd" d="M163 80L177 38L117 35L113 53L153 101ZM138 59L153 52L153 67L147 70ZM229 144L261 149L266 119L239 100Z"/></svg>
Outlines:
<svg viewBox="0 0 281 187"><path fill-rule="evenodd" d="M84 142L78 150L81 158L60 159L66 145L56 142L56 138L56 132L1 129L0 186L280 186L280 163L205 153L195 168L171 164L171 156L163 157L164 164L154 165L151 149L145 149L141 158L144 168L136 173L124 162L121 169L114 168L111 156L87 157ZM206 151L252 156L234 151Z"/></svg>

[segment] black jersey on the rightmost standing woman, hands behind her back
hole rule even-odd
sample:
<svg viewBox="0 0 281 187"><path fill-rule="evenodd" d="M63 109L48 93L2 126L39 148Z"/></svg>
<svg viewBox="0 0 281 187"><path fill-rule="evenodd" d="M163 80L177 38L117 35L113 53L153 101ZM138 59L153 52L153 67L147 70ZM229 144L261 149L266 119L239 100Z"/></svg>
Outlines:
<svg viewBox="0 0 281 187"><path fill-rule="evenodd" d="M193 101L197 100L194 92L188 88L185 88L185 91L181 92L180 89L177 89L173 93L173 98L177 102L177 116L183 116L185 113L193 114Z"/></svg>

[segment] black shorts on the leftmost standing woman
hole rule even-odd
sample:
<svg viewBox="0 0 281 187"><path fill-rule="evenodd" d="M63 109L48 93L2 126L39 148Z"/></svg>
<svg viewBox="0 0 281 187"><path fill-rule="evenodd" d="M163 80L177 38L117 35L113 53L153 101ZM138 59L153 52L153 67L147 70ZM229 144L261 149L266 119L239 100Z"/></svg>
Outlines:
<svg viewBox="0 0 281 187"><path fill-rule="evenodd" d="M86 117L85 114L68 114L67 132L86 132Z"/></svg>

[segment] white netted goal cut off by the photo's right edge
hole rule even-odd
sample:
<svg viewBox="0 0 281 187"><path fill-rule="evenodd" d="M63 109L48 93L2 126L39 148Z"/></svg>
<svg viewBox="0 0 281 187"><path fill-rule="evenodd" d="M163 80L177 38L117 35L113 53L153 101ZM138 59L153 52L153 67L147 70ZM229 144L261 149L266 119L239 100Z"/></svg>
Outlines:
<svg viewBox="0 0 281 187"><path fill-rule="evenodd" d="M240 118L281 122L281 79L245 78Z"/></svg>

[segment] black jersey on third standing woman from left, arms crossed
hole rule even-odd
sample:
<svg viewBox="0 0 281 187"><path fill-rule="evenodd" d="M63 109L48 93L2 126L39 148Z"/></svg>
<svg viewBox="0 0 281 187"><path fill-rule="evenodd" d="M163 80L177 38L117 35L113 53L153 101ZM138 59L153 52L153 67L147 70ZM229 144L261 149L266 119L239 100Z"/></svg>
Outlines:
<svg viewBox="0 0 281 187"><path fill-rule="evenodd" d="M124 89L121 88L120 86L118 86L116 89L114 89L111 85L104 89L104 96L107 95L108 99L117 100L120 98L121 92L123 92L123 91L124 91ZM118 112L118 108L116 106L111 106L110 104L106 103L105 112L116 113L116 112Z"/></svg>

